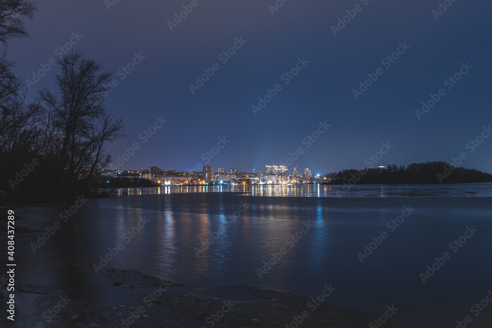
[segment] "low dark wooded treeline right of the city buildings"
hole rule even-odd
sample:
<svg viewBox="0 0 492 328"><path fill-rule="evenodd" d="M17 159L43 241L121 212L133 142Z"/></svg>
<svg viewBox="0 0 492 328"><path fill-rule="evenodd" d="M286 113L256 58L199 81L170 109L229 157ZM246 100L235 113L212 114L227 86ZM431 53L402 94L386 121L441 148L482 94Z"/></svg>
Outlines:
<svg viewBox="0 0 492 328"><path fill-rule="evenodd" d="M343 170L326 175L329 184L414 184L492 182L492 175L435 161L405 166L390 164L386 169Z"/></svg>

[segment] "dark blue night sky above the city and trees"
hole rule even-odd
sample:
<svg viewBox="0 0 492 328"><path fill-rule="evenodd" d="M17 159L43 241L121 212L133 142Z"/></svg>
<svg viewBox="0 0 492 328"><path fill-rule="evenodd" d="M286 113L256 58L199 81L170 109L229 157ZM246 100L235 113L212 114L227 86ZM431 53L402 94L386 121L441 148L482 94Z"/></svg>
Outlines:
<svg viewBox="0 0 492 328"><path fill-rule="evenodd" d="M328 173L366 166L389 142L393 147L377 164L451 161L465 152L462 166L492 172L492 137L467 148L492 124L491 2L456 0L436 20L439 1L428 0L289 0L274 15L268 5L275 0L197 0L171 31L168 21L190 2L120 0L108 10L103 0L41 1L26 25L31 37L11 41L10 56L18 73L31 79L79 32L73 49L119 82L106 104L123 117L128 139L107 149L116 159L125 147L141 146L123 169L184 170L199 163L215 171L264 171L302 147L289 172L296 165ZM331 27L356 5L360 11L334 35ZM246 43L223 63L218 55L236 37ZM381 60L400 42L410 47L400 48L387 67ZM118 71L135 53L145 59L122 80ZM308 63L285 85L289 78L281 76L298 58ZM448 89L445 80L466 62L472 68ZM214 63L220 69L192 94L189 85ZM383 74L356 99L353 89L377 68ZM56 71L41 78L31 98L52 85ZM255 115L251 105L276 84L282 89ZM415 110L441 88L446 94L419 120ZM144 143L139 135L156 116L167 122ZM307 148L303 139L325 120L331 126ZM230 142L206 163L202 154L224 136Z"/></svg>

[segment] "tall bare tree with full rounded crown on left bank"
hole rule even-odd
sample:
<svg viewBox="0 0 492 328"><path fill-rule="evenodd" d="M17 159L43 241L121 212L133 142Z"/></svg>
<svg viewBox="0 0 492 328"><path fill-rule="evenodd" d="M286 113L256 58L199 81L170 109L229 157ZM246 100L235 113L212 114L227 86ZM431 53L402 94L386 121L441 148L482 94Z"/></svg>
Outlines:
<svg viewBox="0 0 492 328"><path fill-rule="evenodd" d="M40 98L60 142L54 179L63 192L70 192L71 186L86 184L107 165L110 157L103 149L104 144L125 135L122 120L113 117L101 101L111 75L100 73L98 63L82 58L79 53L68 54L59 64L56 91L45 88Z"/></svg>

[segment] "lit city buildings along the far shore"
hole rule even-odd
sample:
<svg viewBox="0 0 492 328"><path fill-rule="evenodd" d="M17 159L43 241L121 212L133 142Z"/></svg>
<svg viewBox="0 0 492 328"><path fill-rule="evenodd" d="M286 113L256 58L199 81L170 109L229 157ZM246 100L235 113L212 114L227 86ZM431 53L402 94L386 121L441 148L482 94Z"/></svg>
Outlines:
<svg viewBox="0 0 492 328"><path fill-rule="evenodd" d="M254 170L253 170L254 171ZM121 171L102 170L101 175L111 178L140 178L153 180L161 185L184 184L278 184L278 183L312 183L319 182L319 175L313 176L308 168L298 172L294 166L292 174L286 166L266 165L265 172L239 172L235 169L225 170L219 167L217 172L210 165L203 166L202 172L161 170L157 166L149 170Z"/></svg>

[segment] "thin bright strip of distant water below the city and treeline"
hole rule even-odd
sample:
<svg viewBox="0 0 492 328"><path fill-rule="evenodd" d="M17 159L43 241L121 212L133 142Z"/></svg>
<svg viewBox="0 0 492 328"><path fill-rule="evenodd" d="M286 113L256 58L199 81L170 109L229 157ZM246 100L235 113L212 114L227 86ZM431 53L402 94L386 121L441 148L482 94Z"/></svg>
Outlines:
<svg viewBox="0 0 492 328"><path fill-rule="evenodd" d="M108 188L112 196L175 194L196 192L236 192L248 196L282 197L491 197L492 183L462 184L284 184L234 186L161 186L144 188Z"/></svg>

